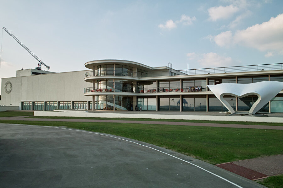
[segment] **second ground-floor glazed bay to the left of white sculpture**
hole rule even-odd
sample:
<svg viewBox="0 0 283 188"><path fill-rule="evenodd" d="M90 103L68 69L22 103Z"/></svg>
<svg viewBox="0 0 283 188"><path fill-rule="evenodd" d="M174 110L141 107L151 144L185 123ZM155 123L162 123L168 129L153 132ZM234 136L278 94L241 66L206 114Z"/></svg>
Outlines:
<svg viewBox="0 0 283 188"><path fill-rule="evenodd" d="M180 111L179 96L160 96L159 98L160 111Z"/></svg>

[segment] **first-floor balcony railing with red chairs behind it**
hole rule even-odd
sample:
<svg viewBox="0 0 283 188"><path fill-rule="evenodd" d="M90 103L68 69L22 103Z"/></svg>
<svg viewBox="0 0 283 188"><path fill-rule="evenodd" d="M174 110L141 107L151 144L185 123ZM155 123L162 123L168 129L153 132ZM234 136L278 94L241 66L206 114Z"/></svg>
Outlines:
<svg viewBox="0 0 283 188"><path fill-rule="evenodd" d="M128 92L128 93L180 93L180 92L202 92L207 91L207 87L174 87L174 88L147 88L147 89L136 89L133 88L125 88L125 87L89 87L85 88L85 93L100 93L100 92Z"/></svg>

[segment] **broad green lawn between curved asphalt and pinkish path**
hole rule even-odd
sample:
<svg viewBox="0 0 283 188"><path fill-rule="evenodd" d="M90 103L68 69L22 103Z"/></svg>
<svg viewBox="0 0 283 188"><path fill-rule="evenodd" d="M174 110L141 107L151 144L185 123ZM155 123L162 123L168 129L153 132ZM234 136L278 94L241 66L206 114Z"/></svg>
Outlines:
<svg viewBox="0 0 283 188"><path fill-rule="evenodd" d="M131 123L12 121L42 126L66 126L108 133L154 144L211 164L283 154L283 131Z"/></svg>

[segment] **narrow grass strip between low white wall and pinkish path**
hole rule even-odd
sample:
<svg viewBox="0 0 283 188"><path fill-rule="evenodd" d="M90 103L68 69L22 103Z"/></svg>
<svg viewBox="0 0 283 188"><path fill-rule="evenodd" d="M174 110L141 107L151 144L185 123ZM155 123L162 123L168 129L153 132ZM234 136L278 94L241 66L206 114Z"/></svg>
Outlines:
<svg viewBox="0 0 283 188"><path fill-rule="evenodd" d="M283 126L283 123L265 123L265 122L251 122L251 121L208 121L208 120L174 120L174 119L147 119L147 118L103 118L103 117L58 117L58 116L32 116L32 117L26 117L26 118L125 120L125 121L170 121L170 122L191 122L191 123L220 123L220 124Z"/></svg>

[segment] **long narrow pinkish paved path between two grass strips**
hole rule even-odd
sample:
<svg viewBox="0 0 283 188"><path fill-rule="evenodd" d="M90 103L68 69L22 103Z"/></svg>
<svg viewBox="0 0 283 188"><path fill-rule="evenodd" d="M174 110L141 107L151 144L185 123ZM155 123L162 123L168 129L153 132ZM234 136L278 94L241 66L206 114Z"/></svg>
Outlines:
<svg viewBox="0 0 283 188"><path fill-rule="evenodd" d="M92 119L49 119L49 118L26 118L26 117L27 117L27 116L0 117L0 120L141 123L141 124L158 124L158 125L185 125L185 126L210 126L210 127L230 127L230 128L250 128L250 129L273 129L273 130L283 130L283 126L266 126L266 125L241 125L241 124L220 124L220 123L191 123L191 122L173 122L173 121L126 121L126 120L92 120Z"/></svg>

